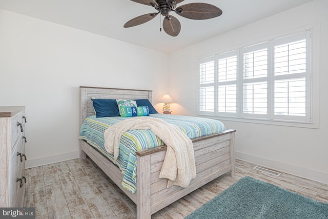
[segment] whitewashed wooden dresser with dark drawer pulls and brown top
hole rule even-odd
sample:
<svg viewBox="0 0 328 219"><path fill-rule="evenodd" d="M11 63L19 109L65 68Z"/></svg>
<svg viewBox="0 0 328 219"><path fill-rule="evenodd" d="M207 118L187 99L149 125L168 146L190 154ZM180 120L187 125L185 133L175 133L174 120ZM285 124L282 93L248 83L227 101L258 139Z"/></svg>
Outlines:
<svg viewBox="0 0 328 219"><path fill-rule="evenodd" d="M0 207L23 207L25 107L0 106Z"/></svg>

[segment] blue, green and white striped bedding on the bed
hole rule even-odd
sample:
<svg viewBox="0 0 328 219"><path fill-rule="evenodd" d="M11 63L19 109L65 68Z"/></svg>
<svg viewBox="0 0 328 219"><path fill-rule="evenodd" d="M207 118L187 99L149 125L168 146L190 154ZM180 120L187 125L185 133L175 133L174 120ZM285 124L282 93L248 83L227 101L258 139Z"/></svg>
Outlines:
<svg viewBox="0 0 328 219"><path fill-rule="evenodd" d="M182 115L165 115L150 114L151 117L160 118L168 123L176 125L189 138L204 136L208 134L218 133L226 130L224 125L216 120L201 117L191 117ZM129 117L101 117L96 118L95 115L89 116L83 122L79 139L87 141L103 153L112 162L114 156L108 153L104 146L104 132L106 129L122 120L129 120ZM152 148L163 145L164 143L155 136L151 130L129 130L121 136L119 156L116 166L124 175L122 187L134 193L136 191L136 154L138 150Z"/></svg>

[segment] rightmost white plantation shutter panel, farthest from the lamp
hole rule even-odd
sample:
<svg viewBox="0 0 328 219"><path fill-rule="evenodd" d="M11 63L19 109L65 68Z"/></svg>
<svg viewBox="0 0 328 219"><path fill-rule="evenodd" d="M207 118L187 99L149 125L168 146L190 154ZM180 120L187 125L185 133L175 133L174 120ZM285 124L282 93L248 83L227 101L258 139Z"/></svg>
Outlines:
<svg viewBox="0 0 328 219"><path fill-rule="evenodd" d="M274 46L274 117L309 122L310 31L276 39Z"/></svg>

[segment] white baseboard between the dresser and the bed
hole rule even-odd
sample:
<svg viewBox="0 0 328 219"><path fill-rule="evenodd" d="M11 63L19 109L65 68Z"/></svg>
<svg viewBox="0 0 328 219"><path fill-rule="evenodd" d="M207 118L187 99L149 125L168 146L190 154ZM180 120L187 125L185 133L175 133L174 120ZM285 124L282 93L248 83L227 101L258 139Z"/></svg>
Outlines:
<svg viewBox="0 0 328 219"><path fill-rule="evenodd" d="M38 157L32 160L28 159L25 162L25 169L43 166L47 164L58 163L61 161L68 161L80 157L80 151L72 151L69 153L56 154L53 156Z"/></svg>

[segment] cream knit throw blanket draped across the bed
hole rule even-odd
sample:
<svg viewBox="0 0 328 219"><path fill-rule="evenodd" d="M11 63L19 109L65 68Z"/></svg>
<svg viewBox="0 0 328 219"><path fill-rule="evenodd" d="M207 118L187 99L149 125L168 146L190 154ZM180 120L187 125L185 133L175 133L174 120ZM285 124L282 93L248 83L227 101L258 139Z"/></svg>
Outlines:
<svg viewBox="0 0 328 219"><path fill-rule="evenodd" d="M105 133L105 148L114 154L115 162L121 135L128 130L150 129L168 147L159 178L168 178L168 188L172 185L186 188L196 177L194 148L190 138L175 125L159 118L133 117L109 127Z"/></svg>

